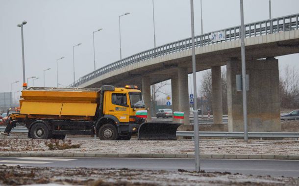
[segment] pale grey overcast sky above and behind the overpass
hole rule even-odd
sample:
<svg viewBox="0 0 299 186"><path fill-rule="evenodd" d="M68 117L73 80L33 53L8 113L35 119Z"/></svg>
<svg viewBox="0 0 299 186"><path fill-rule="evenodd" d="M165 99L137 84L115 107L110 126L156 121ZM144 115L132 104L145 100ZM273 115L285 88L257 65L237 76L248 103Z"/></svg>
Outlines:
<svg viewBox="0 0 299 186"><path fill-rule="evenodd" d="M272 17L299 13L299 0L272 0ZM200 0L194 0L195 34L200 34ZM93 31L97 68L119 60L119 15L123 58L153 48L152 0L0 0L0 92L22 89L21 29L24 26L26 78L36 76L34 86L73 82L73 46L76 80L94 69ZM157 46L191 36L190 0L154 0ZM202 0L203 32L240 25L240 0ZM269 0L244 0L244 22L269 18ZM279 67L298 68L299 54L278 57ZM200 79L200 73L199 73ZM29 80L32 86L32 80Z"/></svg>

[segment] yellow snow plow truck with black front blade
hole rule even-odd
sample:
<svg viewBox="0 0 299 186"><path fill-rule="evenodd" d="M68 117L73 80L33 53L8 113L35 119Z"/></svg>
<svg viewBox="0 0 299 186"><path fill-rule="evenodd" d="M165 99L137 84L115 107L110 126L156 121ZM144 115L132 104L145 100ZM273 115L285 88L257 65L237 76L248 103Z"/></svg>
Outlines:
<svg viewBox="0 0 299 186"><path fill-rule="evenodd" d="M24 122L28 137L64 139L66 134L93 135L101 140L175 140L175 123L147 123L136 112L146 111L137 86L118 88L29 87L22 91L20 113L8 125Z"/></svg>

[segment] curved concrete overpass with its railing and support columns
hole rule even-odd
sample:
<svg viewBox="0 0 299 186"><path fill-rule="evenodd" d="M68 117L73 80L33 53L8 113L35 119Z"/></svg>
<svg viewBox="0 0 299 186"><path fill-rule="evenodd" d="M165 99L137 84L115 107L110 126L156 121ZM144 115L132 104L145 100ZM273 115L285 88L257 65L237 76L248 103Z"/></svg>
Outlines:
<svg viewBox="0 0 299 186"><path fill-rule="evenodd" d="M245 25L246 63L249 74L249 131L280 131L278 60L275 56L299 53L299 14ZM215 127L221 128L221 66L227 68L229 131L243 130L242 93L236 91L236 74L241 74L241 27L231 27L195 37L197 71L212 69ZM215 34L224 37L212 40ZM102 84L142 87L150 105L150 85L172 81L174 110L184 111L189 123L188 74L192 73L191 38L175 41L134 54L106 65L70 86L100 87ZM149 116L150 120L150 116ZM219 124L219 125L217 125Z"/></svg>

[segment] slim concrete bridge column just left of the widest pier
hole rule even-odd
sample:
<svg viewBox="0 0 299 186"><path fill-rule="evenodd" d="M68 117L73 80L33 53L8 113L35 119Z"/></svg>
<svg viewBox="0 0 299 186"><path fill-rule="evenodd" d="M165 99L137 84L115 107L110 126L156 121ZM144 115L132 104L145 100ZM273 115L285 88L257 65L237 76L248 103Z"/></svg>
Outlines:
<svg viewBox="0 0 299 186"><path fill-rule="evenodd" d="M221 66L212 67L212 99L214 124L223 124Z"/></svg>

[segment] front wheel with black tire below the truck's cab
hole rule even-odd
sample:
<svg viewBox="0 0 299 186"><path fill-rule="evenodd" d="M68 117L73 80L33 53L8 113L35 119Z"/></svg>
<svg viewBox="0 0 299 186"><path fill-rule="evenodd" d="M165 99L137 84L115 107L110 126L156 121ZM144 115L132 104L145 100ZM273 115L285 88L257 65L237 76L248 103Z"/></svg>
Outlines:
<svg viewBox="0 0 299 186"><path fill-rule="evenodd" d="M117 129L113 124L106 123L100 127L100 140L116 140L118 138Z"/></svg>

